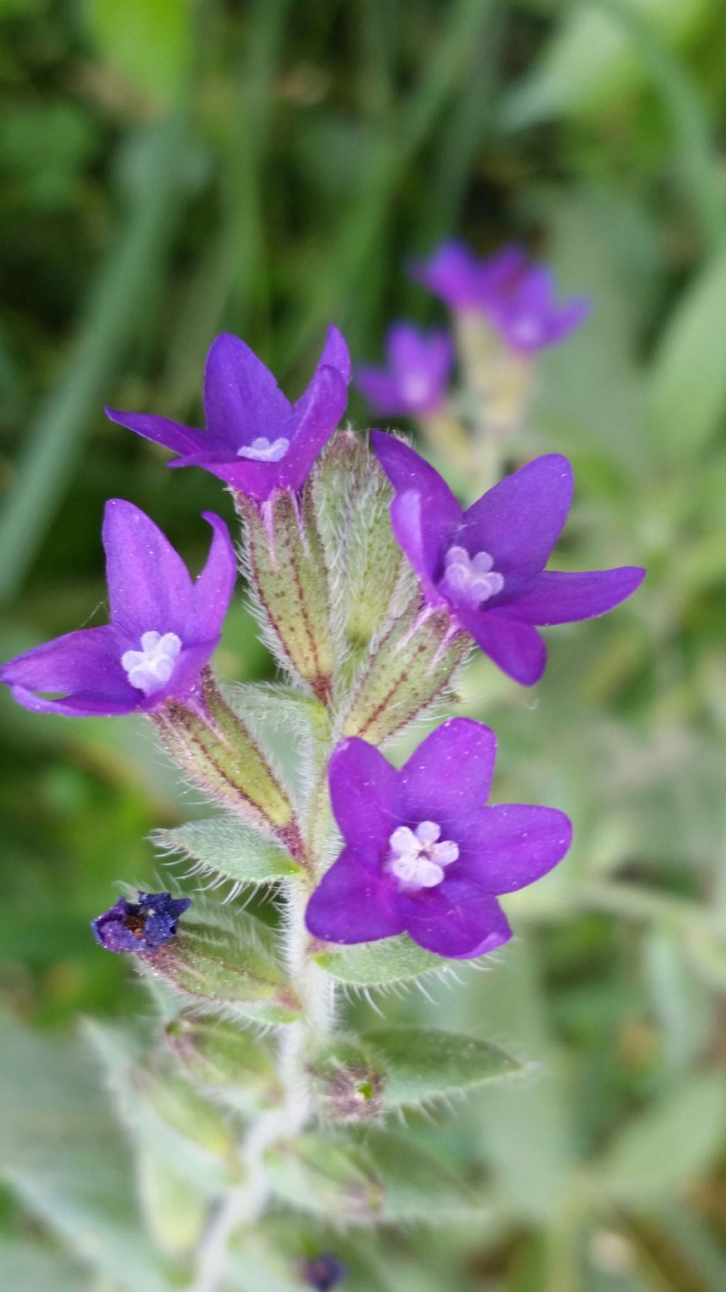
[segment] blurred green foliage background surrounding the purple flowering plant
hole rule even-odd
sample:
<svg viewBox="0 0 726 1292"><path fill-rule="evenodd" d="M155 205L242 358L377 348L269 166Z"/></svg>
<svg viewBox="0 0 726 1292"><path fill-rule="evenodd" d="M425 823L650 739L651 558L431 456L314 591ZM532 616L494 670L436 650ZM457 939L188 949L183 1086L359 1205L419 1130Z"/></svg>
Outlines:
<svg viewBox="0 0 726 1292"><path fill-rule="evenodd" d="M441 1132L491 1222L373 1242L355 1287L723 1292L723 0L0 0L0 23L3 658L102 621L107 496L198 565L199 512L231 519L214 479L102 412L195 421L220 329L296 394L328 320L373 360L393 318L441 317L403 264L451 234L523 240L593 296L517 452L574 460L567 561L648 579L550 634L535 695L468 674L497 797L566 808L576 842L512 901L495 972L402 1006L536 1067ZM239 601L218 663L267 673ZM59 1032L129 1013L87 921L158 873L150 829L202 805L130 720L4 694L0 740L0 1003ZM45 1253L32 1226L0 1195L0 1229ZM39 1286L81 1286L37 1260Z"/></svg>

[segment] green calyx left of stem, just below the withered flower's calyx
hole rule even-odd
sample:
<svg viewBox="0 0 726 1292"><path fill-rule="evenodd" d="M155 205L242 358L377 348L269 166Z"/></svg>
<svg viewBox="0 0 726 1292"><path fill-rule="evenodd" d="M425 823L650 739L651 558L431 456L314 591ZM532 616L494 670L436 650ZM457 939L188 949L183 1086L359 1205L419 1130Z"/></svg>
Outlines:
<svg viewBox="0 0 726 1292"><path fill-rule="evenodd" d="M240 1112L280 1101L271 1047L249 1028L182 1010L167 1023L165 1037L182 1070L212 1098Z"/></svg>

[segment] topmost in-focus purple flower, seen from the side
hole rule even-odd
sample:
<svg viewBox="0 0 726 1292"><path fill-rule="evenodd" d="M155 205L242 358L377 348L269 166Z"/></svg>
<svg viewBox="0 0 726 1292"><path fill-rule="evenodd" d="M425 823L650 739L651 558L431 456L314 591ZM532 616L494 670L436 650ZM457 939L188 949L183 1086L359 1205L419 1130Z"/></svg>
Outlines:
<svg viewBox="0 0 726 1292"><path fill-rule="evenodd" d="M264 503L275 488L300 488L347 402L350 358L342 335L328 339L310 385L291 404L244 341L222 332L204 368L205 430L151 413L116 412L111 421L180 453L169 466L203 466Z"/></svg>

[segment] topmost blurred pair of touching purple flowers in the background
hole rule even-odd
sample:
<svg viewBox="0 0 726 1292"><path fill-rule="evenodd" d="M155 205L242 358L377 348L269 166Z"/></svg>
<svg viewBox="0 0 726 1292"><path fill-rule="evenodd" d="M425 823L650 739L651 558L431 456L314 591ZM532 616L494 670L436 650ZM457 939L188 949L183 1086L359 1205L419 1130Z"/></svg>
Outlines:
<svg viewBox="0 0 726 1292"><path fill-rule="evenodd" d="M412 276L452 310L483 311L509 349L522 355L563 341L590 310L585 297L558 305L552 270L530 265L524 248L514 244L479 260L464 243L443 243Z"/></svg>

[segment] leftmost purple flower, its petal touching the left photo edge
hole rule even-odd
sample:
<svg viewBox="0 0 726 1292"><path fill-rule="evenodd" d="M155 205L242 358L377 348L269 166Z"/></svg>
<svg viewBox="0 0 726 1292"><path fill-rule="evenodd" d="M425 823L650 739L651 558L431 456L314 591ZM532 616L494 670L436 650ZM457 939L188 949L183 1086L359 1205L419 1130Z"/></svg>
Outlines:
<svg viewBox="0 0 726 1292"><path fill-rule="evenodd" d="M121 499L106 504L111 623L66 633L3 664L0 681L18 704L66 717L112 717L149 712L194 691L220 641L236 574L226 525L203 514L213 528L212 545L192 583L143 512Z"/></svg>

